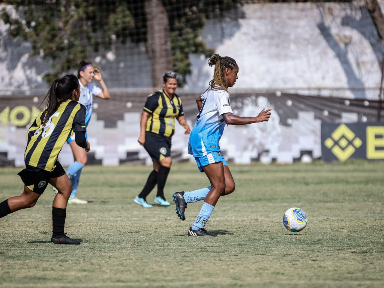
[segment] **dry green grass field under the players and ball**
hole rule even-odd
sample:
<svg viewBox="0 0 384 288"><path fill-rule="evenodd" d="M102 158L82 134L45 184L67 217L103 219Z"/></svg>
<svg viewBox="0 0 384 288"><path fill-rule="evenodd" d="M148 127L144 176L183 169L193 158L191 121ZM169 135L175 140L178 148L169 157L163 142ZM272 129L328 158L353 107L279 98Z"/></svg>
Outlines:
<svg viewBox="0 0 384 288"><path fill-rule="evenodd" d="M151 167L88 166L55 245L47 188L32 209L0 219L0 287L384 287L384 163L230 165L237 187L207 230L187 237L202 202L179 220L174 204L134 204ZM0 169L0 201L19 195L21 169ZM175 164L166 196L208 185L195 164ZM153 203L155 192L149 195ZM308 225L286 230L286 209Z"/></svg>

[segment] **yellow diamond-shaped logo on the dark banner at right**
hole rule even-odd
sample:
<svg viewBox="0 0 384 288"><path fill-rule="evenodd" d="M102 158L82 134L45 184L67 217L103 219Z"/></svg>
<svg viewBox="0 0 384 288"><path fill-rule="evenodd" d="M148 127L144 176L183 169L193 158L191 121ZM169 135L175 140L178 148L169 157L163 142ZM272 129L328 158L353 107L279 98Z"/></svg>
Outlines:
<svg viewBox="0 0 384 288"><path fill-rule="evenodd" d="M342 162L346 161L362 144L359 137L345 124L341 124L332 132L331 137L324 141L324 145Z"/></svg>

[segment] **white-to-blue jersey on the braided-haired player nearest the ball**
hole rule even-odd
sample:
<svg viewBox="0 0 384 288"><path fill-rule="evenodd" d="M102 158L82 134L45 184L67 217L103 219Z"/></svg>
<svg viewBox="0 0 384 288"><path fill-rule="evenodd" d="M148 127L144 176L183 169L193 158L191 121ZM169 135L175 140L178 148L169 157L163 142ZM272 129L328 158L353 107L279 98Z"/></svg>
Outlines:
<svg viewBox="0 0 384 288"><path fill-rule="evenodd" d="M222 114L233 113L227 91L208 89L201 98L202 107L197 114L188 142L188 153L194 157L203 157L211 152L220 151L218 142L225 127Z"/></svg>

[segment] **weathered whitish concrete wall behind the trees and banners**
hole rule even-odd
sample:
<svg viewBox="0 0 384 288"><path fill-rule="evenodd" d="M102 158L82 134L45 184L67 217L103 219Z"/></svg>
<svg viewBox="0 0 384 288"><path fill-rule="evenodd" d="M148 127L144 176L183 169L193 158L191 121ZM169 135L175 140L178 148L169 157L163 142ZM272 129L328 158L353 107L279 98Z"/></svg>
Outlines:
<svg viewBox="0 0 384 288"><path fill-rule="evenodd" d="M0 5L0 8L3 5ZM11 7L8 7L12 11ZM30 44L6 35L0 20L0 94L42 92L49 61L30 58ZM298 92L349 98L378 97L384 47L363 2L247 4L222 19L207 21L202 38L240 67L233 89ZM113 91L151 86L144 45L116 45L93 53ZM190 55L186 91L200 93L213 68Z"/></svg>

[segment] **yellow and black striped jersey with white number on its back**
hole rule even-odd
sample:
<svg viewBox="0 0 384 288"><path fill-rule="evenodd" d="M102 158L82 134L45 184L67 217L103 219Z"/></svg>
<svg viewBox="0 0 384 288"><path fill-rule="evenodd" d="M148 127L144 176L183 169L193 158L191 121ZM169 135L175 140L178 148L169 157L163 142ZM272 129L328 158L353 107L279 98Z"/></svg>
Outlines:
<svg viewBox="0 0 384 288"><path fill-rule="evenodd" d="M44 116L45 111L36 117L28 129L24 162L26 165L53 171L61 148L73 132L86 131L85 107L67 100L60 104L42 127Z"/></svg>

